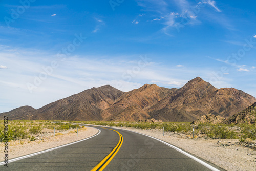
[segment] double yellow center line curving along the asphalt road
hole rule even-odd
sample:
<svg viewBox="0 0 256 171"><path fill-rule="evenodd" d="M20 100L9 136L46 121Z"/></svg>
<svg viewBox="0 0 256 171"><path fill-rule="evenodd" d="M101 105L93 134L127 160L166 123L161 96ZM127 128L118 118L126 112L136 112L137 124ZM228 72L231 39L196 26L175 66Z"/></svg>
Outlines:
<svg viewBox="0 0 256 171"><path fill-rule="evenodd" d="M112 129L108 129L112 130ZM116 130L113 130L118 133L119 135L119 142L117 143L116 147L110 152L108 156L106 156L97 166L95 166L91 171L95 170L103 170L109 163L110 161L114 158L114 156L117 154L119 151L120 147L122 146L123 143L123 136Z"/></svg>

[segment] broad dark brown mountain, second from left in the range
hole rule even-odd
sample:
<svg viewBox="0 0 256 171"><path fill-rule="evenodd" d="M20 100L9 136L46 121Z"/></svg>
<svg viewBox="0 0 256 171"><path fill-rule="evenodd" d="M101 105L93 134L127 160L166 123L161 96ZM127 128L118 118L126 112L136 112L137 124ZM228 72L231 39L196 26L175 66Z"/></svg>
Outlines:
<svg viewBox="0 0 256 171"><path fill-rule="evenodd" d="M99 121L104 109L114 104L124 92L111 86L92 88L45 105L32 119Z"/></svg>

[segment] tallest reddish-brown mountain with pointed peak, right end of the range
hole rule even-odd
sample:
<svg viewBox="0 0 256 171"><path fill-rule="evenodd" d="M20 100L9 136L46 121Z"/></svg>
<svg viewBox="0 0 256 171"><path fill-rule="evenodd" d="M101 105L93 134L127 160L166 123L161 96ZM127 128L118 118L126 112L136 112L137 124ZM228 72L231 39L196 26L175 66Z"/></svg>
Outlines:
<svg viewBox="0 0 256 171"><path fill-rule="evenodd" d="M163 121L194 121L206 114L229 117L254 102L253 96L241 90L216 89L197 77L146 111Z"/></svg>

